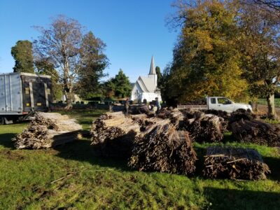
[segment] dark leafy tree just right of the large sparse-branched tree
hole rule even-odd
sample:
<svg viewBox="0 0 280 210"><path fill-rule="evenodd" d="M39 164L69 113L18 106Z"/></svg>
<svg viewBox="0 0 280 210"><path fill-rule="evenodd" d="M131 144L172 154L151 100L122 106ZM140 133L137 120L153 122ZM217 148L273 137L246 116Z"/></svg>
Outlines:
<svg viewBox="0 0 280 210"><path fill-rule="evenodd" d="M78 72L78 92L81 97L90 99L97 94L102 94L100 79L106 74L104 69L109 65L104 55L105 43L95 38L92 32L85 34L81 46L82 62Z"/></svg>

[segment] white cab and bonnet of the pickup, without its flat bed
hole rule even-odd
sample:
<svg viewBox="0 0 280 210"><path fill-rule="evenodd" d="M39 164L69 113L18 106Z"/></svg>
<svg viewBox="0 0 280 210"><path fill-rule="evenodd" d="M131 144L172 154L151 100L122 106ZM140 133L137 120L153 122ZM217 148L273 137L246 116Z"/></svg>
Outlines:
<svg viewBox="0 0 280 210"><path fill-rule="evenodd" d="M207 109L221 110L228 113L239 109L252 111L252 107L249 104L235 103L225 97L207 97L207 106Z"/></svg>

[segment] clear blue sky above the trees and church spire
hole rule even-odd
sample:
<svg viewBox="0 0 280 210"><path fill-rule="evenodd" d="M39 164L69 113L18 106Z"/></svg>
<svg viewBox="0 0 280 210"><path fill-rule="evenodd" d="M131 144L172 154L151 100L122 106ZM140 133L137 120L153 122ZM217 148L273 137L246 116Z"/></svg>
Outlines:
<svg viewBox="0 0 280 210"><path fill-rule="evenodd" d="M121 68L131 82L149 71L151 56L163 70L172 61L177 34L166 26L174 13L173 0L48 0L0 1L0 73L13 71L10 48L18 40L34 40L32 26L48 27L50 18L66 15L78 20L106 43L111 65L105 71L115 76Z"/></svg>

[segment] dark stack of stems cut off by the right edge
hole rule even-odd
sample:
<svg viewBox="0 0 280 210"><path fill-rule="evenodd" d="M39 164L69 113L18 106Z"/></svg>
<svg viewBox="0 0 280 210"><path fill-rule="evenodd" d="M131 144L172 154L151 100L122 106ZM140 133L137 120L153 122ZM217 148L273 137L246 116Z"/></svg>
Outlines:
<svg viewBox="0 0 280 210"><path fill-rule="evenodd" d="M280 146L280 127L260 120L241 119L230 125L232 134L241 142Z"/></svg>

